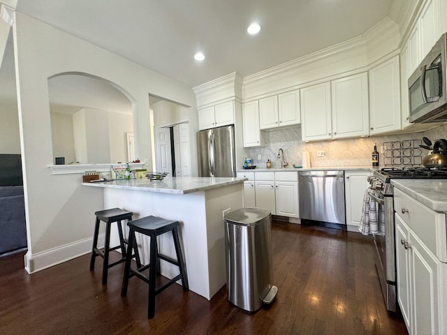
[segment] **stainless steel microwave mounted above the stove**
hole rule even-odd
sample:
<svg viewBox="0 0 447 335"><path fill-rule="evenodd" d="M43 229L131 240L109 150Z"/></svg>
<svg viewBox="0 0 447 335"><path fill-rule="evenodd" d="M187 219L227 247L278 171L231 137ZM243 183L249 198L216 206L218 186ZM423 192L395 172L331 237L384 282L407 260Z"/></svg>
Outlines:
<svg viewBox="0 0 447 335"><path fill-rule="evenodd" d="M409 77L410 122L447 121L446 38L447 33Z"/></svg>

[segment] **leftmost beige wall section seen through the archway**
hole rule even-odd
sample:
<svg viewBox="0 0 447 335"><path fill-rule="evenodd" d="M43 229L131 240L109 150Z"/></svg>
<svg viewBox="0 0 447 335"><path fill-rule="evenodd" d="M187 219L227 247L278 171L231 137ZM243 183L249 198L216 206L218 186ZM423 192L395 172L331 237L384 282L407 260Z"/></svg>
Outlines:
<svg viewBox="0 0 447 335"><path fill-rule="evenodd" d="M65 163L76 161L73 117L71 114L51 113L53 158L65 157Z"/></svg>

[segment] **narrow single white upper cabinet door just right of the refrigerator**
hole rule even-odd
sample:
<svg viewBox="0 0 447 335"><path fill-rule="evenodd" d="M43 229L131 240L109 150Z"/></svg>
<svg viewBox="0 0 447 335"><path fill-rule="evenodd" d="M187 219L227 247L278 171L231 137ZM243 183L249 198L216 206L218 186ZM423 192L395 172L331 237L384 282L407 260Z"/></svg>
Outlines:
<svg viewBox="0 0 447 335"><path fill-rule="evenodd" d="M242 128L244 147L259 147L263 145L261 131L259 130L258 101L251 101L242 105Z"/></svg>

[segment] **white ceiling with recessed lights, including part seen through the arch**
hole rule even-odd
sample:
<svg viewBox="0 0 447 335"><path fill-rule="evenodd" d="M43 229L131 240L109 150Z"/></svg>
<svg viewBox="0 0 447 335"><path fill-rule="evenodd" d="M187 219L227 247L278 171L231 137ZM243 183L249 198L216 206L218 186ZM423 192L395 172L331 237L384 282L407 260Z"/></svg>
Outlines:
<svg viewBox="0 0 447 335"><path fill-rule="evenodd" d="M18 0L16 10L196 87L235 71L252 75L361 36L384 17L393 18L402 1ZM256 36L247 34L253 21L262 27ZM197 51L205 61L193 59ZM5 52L0 87L14 77L13 70L3 70L7 64L13 68L12 47ZM81 107L131 112L123 94L93 78L55 77L49 91L57 112Z"/></svg>

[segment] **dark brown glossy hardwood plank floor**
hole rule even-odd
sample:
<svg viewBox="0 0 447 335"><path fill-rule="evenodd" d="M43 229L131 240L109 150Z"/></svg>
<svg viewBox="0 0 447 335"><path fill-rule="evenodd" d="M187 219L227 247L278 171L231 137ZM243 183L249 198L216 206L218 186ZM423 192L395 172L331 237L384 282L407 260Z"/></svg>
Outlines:
<svg viewBox="0 0 447 335"><path fill-rule="evenodd" d="M0 258L0 334L407 334L383 304L372 241L352 232L272 225L274 285L270 308L247 313L222 288L211 301L173 285L147 319L147 285L129 282L122 265L101 285L101 260L89 255L29 276L23 253Z"/></svg>

